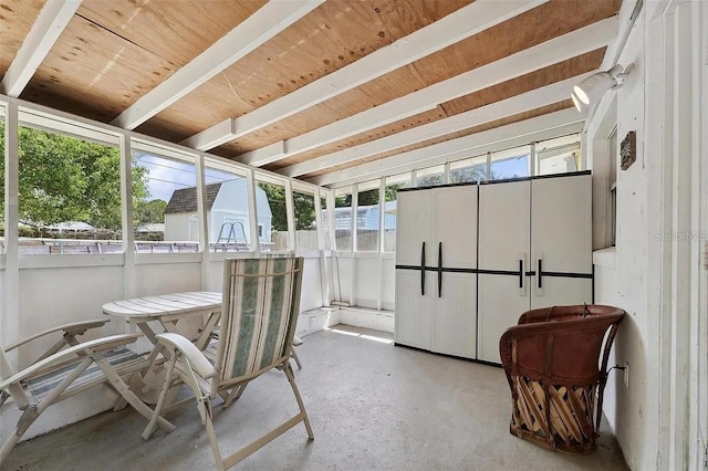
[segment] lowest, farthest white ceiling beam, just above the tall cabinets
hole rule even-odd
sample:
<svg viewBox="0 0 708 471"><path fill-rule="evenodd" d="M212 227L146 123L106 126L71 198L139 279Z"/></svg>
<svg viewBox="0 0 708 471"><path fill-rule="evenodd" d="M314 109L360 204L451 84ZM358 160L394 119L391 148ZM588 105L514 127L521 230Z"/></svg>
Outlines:
<svg viewBox="0 0 708 471"><path fill-rule="evenodd" d="M548 115L508 124L420 149L367 163L357 167L333 171L310 179L314 185L341 188L358 181L410 171L420 167L482 155L504 147L517 147L532 140L552 139L582 130L584 114L575 108L562 109Z"/></svg>

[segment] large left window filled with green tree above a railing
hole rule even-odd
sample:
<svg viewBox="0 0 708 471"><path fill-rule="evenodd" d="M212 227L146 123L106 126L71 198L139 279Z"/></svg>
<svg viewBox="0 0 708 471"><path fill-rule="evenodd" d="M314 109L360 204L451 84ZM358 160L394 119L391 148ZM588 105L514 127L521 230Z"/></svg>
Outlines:
<svg viewBox="0 0 708 471"><path fill-rule="evenodd" d="M122 252L119 158L114 145L21 125L20 253Z"/></svg>

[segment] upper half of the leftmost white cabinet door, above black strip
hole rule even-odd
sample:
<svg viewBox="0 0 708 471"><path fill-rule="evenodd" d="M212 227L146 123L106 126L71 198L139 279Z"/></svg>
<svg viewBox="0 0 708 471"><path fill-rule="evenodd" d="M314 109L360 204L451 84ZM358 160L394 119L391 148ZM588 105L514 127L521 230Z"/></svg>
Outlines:
<svg viewBox="0 0 708 471"><path fill-rule="evenodd" d="M396 201L396 264L420 265L423 243L426 264L435 263L433 247L433 199L435 190L402 191ZM435 255L437 257L437 255Z"/></svg>

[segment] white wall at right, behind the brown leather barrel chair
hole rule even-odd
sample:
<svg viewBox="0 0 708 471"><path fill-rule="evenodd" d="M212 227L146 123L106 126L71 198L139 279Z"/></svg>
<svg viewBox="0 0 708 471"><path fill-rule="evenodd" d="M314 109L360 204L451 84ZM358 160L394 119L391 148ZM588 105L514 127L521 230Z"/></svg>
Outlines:
<svg viewBox="0 0 708 471"><path fill-rule="evenodd" d="M697 357L689 355L689 345L706 343L689 327L701 325L699 250L698 241L676 236L691 233L701 198L691 168L699 169L705 156L691 147L690 134L697 118L691 103L706 94L691 88L690 64L701 65L701 2L646 2L618 59L634 70L586 126L595 248L607 242L604 139L613 121L618 142L636 132L636 163L617 170L616 248L594 254L595 302L628 313L610 363L629 365L628 387L622 371L611 373L604 412L633 470L702 467L699 433L689 427L691 417L706 414L696 399L697 375L690 374ZM701 130L702 137L693 138L705 139Z"/></svg>

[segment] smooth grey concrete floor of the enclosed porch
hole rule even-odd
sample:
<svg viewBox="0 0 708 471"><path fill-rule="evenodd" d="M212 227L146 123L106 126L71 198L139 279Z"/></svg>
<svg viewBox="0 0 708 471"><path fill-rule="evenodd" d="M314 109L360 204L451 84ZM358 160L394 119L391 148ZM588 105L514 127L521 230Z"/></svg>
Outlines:
<svg viewBox="0 0 708 471"><path fill-rule="evenodd" d="M371 337L367 337L371 336ZM383 338L382 338L383 337ZM237 468L249 470L624 470L614 437L597 451L554 453L509 433L510 393L500 368L394 347L389 334L348 326L313 334L295 370L315 440L298 425ZM293 416L284 375L253 381L230 409L216 407L229 453ZM197 408L144 441L132 409L105 412L20 443L3 470L208 470L214 458ZM606 427L606 426L605 426Z"/></svg>

